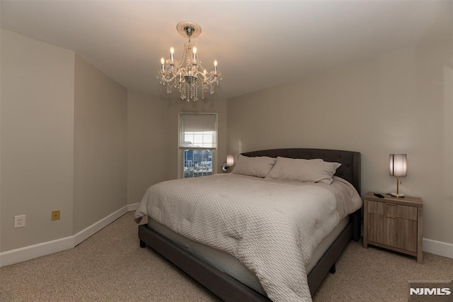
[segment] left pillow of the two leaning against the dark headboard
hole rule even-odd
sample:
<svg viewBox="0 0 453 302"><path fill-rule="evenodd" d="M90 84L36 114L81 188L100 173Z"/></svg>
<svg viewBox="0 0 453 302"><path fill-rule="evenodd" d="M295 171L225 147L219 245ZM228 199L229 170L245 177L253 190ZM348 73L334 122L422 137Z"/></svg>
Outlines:
<svg viewBox="0 0 453 302"><path fill-rule="evenodd" d="M239 155L232 174L266 177L274 167L276 159L267 156L248 157Z"/></svg>

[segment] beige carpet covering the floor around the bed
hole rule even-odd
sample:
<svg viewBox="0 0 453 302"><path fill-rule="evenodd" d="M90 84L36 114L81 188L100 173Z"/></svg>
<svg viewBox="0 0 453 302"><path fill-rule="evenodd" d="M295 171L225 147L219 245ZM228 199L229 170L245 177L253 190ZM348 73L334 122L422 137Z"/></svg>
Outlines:
<svg viewBox="0 0 453 302"><path fill-rule="evenodd" d="M218 301L149 248L127 213L74 249L0 269L0 301ZM408 280L453 279L453 259L415 258L350 242L314 296L321 301L407 301Z"/></svg>

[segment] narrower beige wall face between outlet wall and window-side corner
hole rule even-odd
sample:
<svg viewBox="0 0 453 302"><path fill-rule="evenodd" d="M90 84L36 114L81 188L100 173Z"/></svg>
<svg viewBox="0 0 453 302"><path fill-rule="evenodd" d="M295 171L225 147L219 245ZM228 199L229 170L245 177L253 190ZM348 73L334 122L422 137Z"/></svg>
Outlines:
<svg viewBox="0 0 453 302"><path fill-rule="evenodd" d="M127 90L75 60L74 233L127 203Z"/></svg>

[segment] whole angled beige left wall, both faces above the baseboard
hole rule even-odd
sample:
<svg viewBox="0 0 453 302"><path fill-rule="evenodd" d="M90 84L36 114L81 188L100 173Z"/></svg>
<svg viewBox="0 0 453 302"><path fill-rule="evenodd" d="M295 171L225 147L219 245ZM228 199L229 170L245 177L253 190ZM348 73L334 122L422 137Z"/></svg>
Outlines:
<svg viewBox="0 0 453 302"><path fill-rule="evenodd" d="M70 237L126 206L127 90L74 52L8 30L1 79L0 252Z"/></svg>

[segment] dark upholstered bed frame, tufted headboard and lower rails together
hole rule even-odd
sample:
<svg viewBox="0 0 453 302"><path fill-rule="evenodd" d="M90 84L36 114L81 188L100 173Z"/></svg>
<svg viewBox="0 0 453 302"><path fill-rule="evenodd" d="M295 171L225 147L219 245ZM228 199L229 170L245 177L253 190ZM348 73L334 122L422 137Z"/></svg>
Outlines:
<svg viewBox="0 0 453 302"><path fill-rule="evenodd" d="M246 152L242 153L242 155L249 157L281 156L304 159L321 158L326 162L340 162L341 166L336 170L335 175L349 181L360 194L360 152L289 148ZM355 241L359 240L361 210L352 213L350 216L351 220L348 226L338 236L336 241L333 242L331 247L328 248L308 275L311 296L319 288L328 272L335 273L335 262L340 257L346 245L348 245L351 237ZM228 274L212 267L202 259L195 257L166 237L149 229L147 225L139 226L139 239L140 247L149 245L224 301L270 301L268 297L261 295Z"/></svg>

